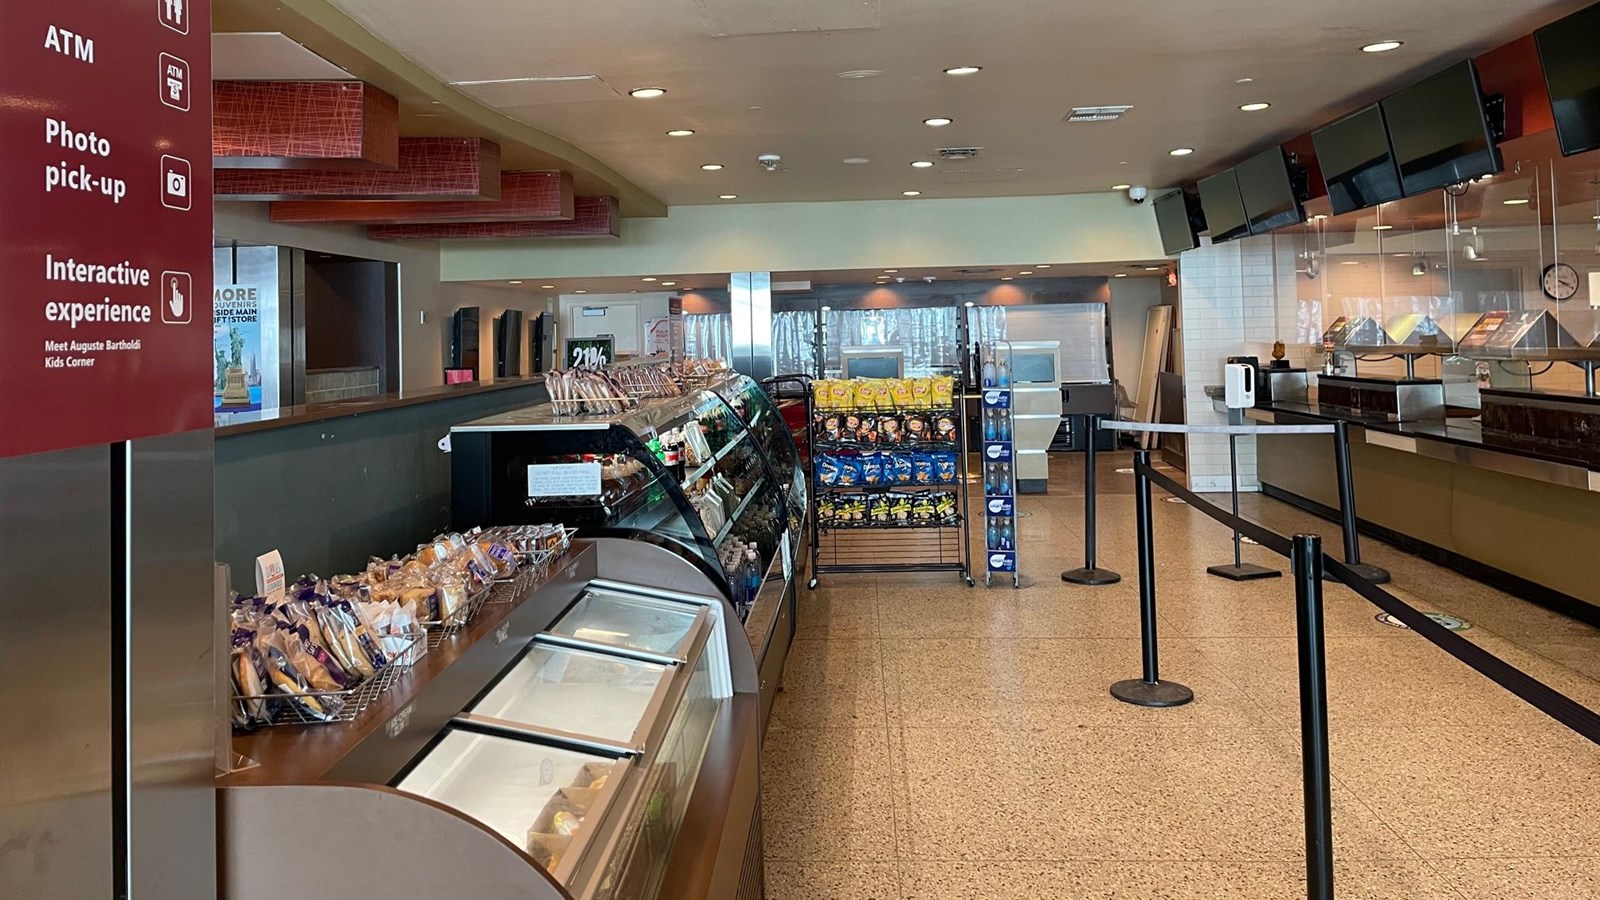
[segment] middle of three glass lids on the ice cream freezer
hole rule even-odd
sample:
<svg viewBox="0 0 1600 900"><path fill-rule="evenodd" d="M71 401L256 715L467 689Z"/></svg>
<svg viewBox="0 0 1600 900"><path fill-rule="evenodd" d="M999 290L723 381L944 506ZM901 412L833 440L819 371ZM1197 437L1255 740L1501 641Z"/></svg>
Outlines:
<svg viewBox="0 0 1600 900"><path fill-rule="evenodd" d="M637 746L664 701L672 666L534 642L467 713Z"/></svg>

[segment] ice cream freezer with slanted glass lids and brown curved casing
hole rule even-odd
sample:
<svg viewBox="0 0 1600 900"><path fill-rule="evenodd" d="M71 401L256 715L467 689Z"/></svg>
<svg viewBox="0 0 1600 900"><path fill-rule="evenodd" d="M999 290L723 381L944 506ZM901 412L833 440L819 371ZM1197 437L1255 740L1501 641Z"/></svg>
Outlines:
<svg viewBox="0 0 1600 900"><path fill-rule="evenodd" d="M579 541L355 722L237 738L221 895L760 897L755 660L696 562Z"/></svg>

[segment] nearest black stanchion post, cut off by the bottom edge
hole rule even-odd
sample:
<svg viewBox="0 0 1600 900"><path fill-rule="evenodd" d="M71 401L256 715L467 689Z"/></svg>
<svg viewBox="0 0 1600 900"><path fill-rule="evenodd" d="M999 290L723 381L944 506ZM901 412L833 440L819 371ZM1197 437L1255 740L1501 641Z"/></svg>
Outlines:
<svg viewBox="0 0 1600 900"><path fill-rule="evenodd" d="M1306 898L1333 900L1333 788L1328 773L1328 660L1322 637L1322 538L1294 535L1301 765L1306 781Z"/></svg>

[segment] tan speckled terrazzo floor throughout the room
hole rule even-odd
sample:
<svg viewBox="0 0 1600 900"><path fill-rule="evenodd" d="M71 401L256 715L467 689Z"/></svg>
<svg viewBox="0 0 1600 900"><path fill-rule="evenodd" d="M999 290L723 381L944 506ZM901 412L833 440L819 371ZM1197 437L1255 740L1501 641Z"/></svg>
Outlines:
<svg viewBox="0 0 1600 900"><path fill-rule="evenodd" d="M824 577L763 751L773 900L1306 895L1294 599L1230 583L1229 532L1155 503L1163 677L1195 701L1141 709L1133 477L1102 456L1101 565L1080 588L1082 460L1022 498L1034 586L952 575ZM1157 496L1162 496L1157 492ZM1226 496L1218 500L1226 501ZM1338 528L1269 498L1280 533ZM1246 560L1285 569L1256 546ZM1363 541L1413 605L1600 709L1600 631ZM1600 897L1600 748L1424 639L1326 593L1336 892L1341 900Z"/></svg>

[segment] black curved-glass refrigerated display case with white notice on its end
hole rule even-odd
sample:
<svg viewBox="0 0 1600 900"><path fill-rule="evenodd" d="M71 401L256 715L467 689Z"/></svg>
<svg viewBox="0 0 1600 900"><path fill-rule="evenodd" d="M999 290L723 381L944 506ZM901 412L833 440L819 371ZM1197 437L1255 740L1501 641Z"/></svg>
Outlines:
<svg viewBox="0 0 1600 900"><path fill-rule="evenodd" d="M651 532L720 573L741 618L779 551L798 546L805 479L794 444L742 376L616 415L539 405L461 424L451 460L456 522Z"/></svg>

